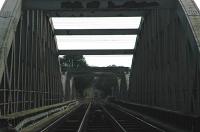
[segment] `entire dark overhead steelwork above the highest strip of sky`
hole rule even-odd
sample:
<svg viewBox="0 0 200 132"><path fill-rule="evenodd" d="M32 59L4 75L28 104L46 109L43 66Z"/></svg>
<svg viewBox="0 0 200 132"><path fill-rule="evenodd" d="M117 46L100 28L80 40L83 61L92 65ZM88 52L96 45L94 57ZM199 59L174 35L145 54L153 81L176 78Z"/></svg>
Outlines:
<svg viewBox="0 0 200 132"><path fill-rule="evenodd" d="M49 17L129 17L160 5L160 0L24 0L23 9L44 10Z"/></svg>

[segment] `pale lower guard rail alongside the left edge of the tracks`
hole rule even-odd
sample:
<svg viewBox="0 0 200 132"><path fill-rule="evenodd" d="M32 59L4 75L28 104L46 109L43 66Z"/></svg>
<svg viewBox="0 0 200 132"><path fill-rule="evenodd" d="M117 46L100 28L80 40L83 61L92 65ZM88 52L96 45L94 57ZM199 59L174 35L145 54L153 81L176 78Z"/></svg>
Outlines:
<svg viewBox="0 0 200 132"><path fill-rule="evenodd" d="M62 106L60 108L56 108L54 110L49 110L47 112L43 112L39 115L35 115L35 116L32 116L32 117L29 117L29 118L26 118L24 120L22 120L16 127L15 129L17 131L21 130L26 124L30 123L30 122L35 122L36 120L38 119L41 119L41 118L44 118L44 117L48 117L49 115L53 114L53 113L56 113L56 112L60 112L60 111L63 111L65 109L68 109L68 108L71 108L72 106L74 105L78 105L79 102L78 101L73 101L73 102L70 102L69 104L67 104L66 106Z"/></svg>

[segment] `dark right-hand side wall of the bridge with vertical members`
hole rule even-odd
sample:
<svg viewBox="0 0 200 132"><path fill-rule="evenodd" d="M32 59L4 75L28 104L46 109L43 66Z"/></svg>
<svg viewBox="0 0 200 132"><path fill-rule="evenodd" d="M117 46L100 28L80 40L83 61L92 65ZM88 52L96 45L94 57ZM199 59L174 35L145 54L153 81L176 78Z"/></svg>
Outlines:
<svg viewBox="0 0 200 132"><path fill-rule="evenodd" d="M193 0L175 5L144 16L129 97L139 104L199 114L200 11Z"/></svg>

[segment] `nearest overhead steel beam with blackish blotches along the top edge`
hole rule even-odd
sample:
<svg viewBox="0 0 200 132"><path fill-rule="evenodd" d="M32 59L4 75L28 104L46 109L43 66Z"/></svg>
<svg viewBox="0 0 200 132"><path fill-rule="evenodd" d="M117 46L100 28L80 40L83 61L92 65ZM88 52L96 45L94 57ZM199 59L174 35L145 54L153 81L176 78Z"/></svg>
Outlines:
<svg viewBox="0 0 200 132"><path fill-rule="evenodd" d="M128 9L160 6L160 0L24 0L25 9Z"/></svg>

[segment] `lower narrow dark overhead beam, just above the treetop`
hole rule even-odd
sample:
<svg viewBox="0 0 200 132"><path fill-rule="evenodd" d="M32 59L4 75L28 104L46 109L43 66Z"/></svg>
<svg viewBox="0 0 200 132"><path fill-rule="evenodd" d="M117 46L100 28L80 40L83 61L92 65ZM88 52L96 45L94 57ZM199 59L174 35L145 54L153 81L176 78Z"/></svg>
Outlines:
<svg viewBox="0 0 200 132"><path fill-rule="evenodd" d="M133 55L132 49L119 50L59 50L59 55Z"/></svg>

